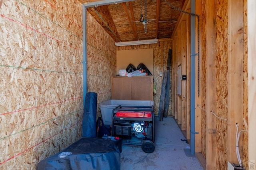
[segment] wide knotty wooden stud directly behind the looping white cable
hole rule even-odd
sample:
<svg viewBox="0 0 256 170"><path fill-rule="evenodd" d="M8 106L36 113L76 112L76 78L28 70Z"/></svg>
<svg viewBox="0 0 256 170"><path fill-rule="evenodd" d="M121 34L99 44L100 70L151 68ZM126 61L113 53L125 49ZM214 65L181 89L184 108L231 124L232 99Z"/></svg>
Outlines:
<svg viewBox="0 0 256 170"><path fill-rule="evenodd" d="M228 0L228 161L236 157L236 123L243 125L243 0ZM242 134L240 136L242 153Z"/></svg>

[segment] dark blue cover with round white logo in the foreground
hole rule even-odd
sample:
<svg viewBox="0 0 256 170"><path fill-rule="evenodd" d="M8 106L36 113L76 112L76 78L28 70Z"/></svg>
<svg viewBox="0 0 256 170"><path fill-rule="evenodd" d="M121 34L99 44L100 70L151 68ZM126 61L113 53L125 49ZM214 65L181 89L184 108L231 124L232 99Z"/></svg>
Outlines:
<svg viewBox="0 0 256 170"><path fill-rule="evenodd" d="M83 137L40 161L36 170L120 170L120 151L112 140Z"/></svg>

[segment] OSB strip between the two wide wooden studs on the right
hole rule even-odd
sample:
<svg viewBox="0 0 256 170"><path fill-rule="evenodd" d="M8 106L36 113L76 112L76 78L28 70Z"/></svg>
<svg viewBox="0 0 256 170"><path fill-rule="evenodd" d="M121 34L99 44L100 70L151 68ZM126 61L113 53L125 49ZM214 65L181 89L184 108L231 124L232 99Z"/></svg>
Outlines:
<svg viewBox="0 0 256 170"><path fill-rule="evenodd" d="M216 115L227 119L228 113L228 1L216 1ZM216 169L225 169L227 165L227 121L216 119Z"/></svg>

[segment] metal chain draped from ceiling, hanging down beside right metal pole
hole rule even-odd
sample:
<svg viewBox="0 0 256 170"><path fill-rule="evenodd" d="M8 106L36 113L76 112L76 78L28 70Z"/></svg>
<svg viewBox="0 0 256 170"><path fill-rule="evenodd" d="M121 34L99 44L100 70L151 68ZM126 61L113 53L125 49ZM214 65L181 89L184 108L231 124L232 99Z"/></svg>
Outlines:
<svg viewBox="0 0 256 170"><path fill-rule="evenodd" d="M164 0L164 2L166 2L166 4L168 4L169 6L171 6L173 9L175 9L175 10L178 10L178 11L180 11L180 12L183 12L183 13L185 13L185 14L189 14L189 15L192 15L192 16L197 16L197 21L198 21L198 23L197 23L197 40L198 40L198 51L197 51L197 55L198 55L198 82L197 82L197 94L198 94L198 97L199 97L199 95L200 95L200 56L199 56L199 50L200 50L200 36L199 36L199 34L200 34L200 28L199 28L199 26L200 26L200 24L199 24L199 17L200 17L200 15L198 15L198 14L194 14L194 13L191 13L191 12L186 12L186 11L184 11L184 10L181 10L180 8L178 8L178 7L176 7L176 6L174 6L174 5L172 5L170 2L167 2L166 0Z"/></svg>

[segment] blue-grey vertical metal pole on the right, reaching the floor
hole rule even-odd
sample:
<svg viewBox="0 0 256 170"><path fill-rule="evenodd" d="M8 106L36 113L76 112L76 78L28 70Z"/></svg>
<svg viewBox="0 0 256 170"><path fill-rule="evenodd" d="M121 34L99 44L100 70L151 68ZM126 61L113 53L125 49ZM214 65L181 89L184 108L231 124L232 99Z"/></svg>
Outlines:
<svg viewBox="0 0 256 170"><path fill-rule="evenodd" d="M195 14L195 0L191 0L191 13ZM195 65L195 16L191 15L191 100L190 100L190 152L195 154L195 84L196 84L196 65Z"/></svg>

